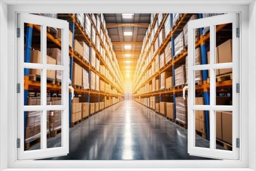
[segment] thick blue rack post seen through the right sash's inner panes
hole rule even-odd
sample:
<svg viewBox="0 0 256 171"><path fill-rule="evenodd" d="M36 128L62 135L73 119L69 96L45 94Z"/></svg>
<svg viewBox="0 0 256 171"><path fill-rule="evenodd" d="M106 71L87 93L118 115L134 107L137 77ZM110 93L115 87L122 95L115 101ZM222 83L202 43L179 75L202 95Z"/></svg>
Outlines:
<svg viewBox="0 0 256 171"><path fill-rule="evenodd" d="M198 14L199 18L203 18L203 14ZM207 64L207 56L206 56L206 46L205 41L203 40L203 28L199 29L200 34L200 45L201 45L201 64ZM209 92L207 90L207 78L208 78L208 71L203 70L203 91L204 91L204 103L205 105L210 104ZM209 128L209 111L205 111L205 128L206 128L206 139L210 140L210 128Z"/></svg>

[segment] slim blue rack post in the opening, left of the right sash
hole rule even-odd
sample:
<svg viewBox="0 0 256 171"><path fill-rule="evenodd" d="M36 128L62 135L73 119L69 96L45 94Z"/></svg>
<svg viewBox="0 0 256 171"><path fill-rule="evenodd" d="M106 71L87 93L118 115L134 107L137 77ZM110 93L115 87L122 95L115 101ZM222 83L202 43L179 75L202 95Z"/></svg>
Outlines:
<svg viewBox="0 0 256 171"><path fill-rule="evenodd" d="M173 14L170 13L170 29L173 29ZM175 47L174 47L174 37L172 36L170 38L170 41L172 42L172 55L173 58L175 56ZM175 67L174 65L172 66L172 70L173 70L173 86L175 86ZM176 120L176 94L174 92L174 120Z"/></svg>

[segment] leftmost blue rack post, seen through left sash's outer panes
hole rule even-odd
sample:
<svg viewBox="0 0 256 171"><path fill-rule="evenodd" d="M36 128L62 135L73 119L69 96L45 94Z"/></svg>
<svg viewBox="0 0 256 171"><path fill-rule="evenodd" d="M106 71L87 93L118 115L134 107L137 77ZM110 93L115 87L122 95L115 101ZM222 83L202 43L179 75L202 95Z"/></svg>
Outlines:
<svg viewBox="0 0 256 171"><path fill-rule="evenodd" d="M30 57L31 57L31 45L32 45L32 33L33 33L33 25L28 24L27 25L27 32L26 32L26 45L25 45L25 59L24 62L30 62ZM29 85L27 84L27 81L29 80L29 69L25 68L24 69L24 105L28 105L28 93L29 93ZM24 132L26 128L26 122L27 120L27 112L24 112ZM26 132L25 134L26 135Z"/></svg>

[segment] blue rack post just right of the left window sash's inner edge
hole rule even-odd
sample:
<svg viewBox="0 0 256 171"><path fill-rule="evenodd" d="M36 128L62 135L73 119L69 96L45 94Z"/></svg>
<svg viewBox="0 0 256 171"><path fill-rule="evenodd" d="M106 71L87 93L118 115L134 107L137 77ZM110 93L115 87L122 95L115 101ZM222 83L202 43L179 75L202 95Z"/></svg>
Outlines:
<svg viewBox="0 0 256 171"><path fill-rule="evenodd" d="M72 48L74 49L74 33L75 33L75 23L74 22L70 22L70 31L73 34L72 37ZM70 80L72 82L73 80L73 55L70 56ZM69 126L71 126L71 106L72 106L72 99L71 99L72 95L71 93L69 93Z"/></svg>

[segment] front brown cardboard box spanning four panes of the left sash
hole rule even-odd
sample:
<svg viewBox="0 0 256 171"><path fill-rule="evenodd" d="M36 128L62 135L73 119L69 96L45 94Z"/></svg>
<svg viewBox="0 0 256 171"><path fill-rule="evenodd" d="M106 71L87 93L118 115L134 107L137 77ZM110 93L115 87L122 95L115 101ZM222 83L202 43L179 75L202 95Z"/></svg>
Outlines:
<svg viewBox="0 0 256 171"><path fill-rule="evenodd" d="M38 50L32 50L30 62L31 63L41 63L41 52ZM56 59L47 55L47 64L56 65ZM41 70L30 69L30 74L40 76ZM55 74L56 74L55 70L47 70L47 78L55 79L55 76L56 76Z"/></svg>

